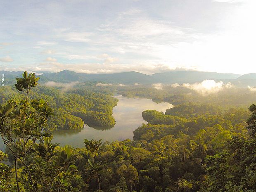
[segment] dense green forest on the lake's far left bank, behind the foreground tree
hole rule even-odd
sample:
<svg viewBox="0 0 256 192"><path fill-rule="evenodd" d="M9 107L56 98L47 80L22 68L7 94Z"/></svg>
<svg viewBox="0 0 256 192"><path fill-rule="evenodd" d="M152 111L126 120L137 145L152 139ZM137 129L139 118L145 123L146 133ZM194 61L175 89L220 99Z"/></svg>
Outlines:
<svg viewBox="0 0 256 192"><path fill-rule="evenodd" d="M46 130L77 129L83 128L83 124L114 126L112 109L118 100L111 97L109 90L92 90L91 87L90 83L80 84L72 91L64 91L63 86L54 88L42 85L34 88L28 98L41 98L51 104L55 116L47 122ZM3 104L9 99L25 99L25 95L17 93L10 85L2 87L0 95L0 103Z"/></svg>

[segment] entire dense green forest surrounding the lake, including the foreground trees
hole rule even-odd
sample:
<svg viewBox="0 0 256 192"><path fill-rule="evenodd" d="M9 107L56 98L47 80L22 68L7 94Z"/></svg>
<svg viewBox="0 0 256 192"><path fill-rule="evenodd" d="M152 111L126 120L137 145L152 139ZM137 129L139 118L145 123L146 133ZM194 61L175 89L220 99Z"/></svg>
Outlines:
<svg viewBox="0 0 256 192"><path fill-rule="evenodd" d="M13 163L0 164L0 191L256 191L255 94L234 89L205 97L183 88L119 88L123 95L175 107L143 111L147 123L133 140L85 139L83 148L74 149L53 144L45 130L113 123L114 89L83 83L62 92L37 86L38 80L24 72L15 88L0 90L0 133L8 149L0 159Z"/></svg>

